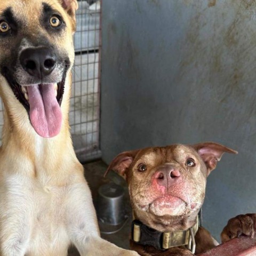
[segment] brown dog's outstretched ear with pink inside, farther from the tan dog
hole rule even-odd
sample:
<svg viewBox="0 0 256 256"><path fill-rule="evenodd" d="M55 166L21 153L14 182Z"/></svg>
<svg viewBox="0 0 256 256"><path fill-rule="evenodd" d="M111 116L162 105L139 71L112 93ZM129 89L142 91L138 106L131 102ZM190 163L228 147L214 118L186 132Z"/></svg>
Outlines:
<svg viewBox="0 0 256 256"><path fill-rule="evenodd" d="M207 176L216 168L217 162L220 161L224 153L237 154L236 150L225 147L214 142L204 142L192 146L202 157L206 167Z"/></svg>

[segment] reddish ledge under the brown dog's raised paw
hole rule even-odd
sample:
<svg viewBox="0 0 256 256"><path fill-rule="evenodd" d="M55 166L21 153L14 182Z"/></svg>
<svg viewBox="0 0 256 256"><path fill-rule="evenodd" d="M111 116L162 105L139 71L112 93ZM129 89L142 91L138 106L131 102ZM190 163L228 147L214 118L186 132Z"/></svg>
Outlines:
<svg viewBox="0 0 256 256"><path fill-rule="evenodd" d="M256 256L256 237L239 237L198 256Z"/></svg>

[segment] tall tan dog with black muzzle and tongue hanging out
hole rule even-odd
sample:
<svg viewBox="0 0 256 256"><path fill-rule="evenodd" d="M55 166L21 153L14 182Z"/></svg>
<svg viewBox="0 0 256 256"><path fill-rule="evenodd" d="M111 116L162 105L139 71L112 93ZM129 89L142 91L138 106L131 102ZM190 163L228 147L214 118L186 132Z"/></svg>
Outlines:
<svg viewBox="0 0 256 256"><path fill-rule="evenodd" d="M76 0L0 1L0 255L138 255L100 238L70 139Z"/></svg>

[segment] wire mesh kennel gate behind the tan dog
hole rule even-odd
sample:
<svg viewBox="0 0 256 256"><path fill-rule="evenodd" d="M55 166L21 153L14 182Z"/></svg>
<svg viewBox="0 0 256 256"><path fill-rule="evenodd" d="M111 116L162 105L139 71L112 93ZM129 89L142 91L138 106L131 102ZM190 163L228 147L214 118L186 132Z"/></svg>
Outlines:
<svg viewBox="0 0 256 256"><path fill-rule="evenodd" d="M101 5L97 0L78 0L75 63L69 124L74 148L81 162L100 156L99 149L99 51ZM0 99L0 132L3 103ZM1 137L0 137L1 145Z"/></svg>

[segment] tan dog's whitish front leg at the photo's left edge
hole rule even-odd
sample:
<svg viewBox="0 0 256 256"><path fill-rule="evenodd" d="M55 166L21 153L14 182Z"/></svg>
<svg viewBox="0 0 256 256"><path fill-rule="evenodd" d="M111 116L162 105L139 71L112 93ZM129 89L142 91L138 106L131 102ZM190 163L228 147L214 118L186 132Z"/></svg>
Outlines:
<svg viewBox="0 0 256 256"><path fill-rule="evenodd" d="M11 188L0 193L0 255L23 256L31 234L31 197L29 191L25 191L27 184L25 186L19 177L9 178L9 182Z"/></svg>

